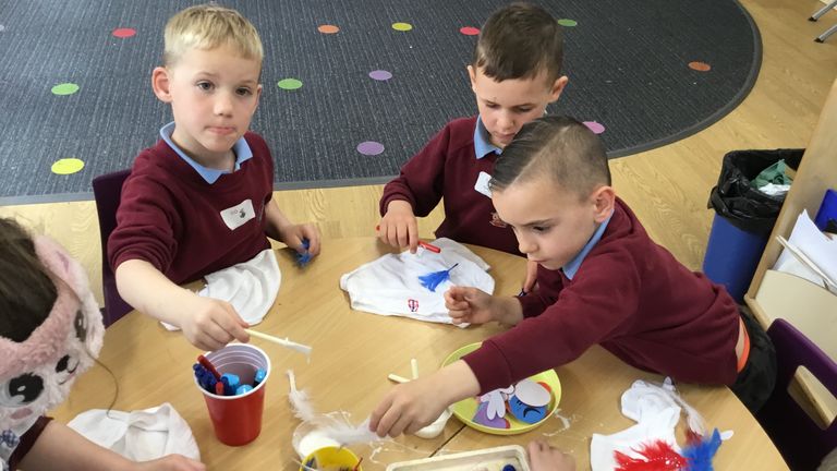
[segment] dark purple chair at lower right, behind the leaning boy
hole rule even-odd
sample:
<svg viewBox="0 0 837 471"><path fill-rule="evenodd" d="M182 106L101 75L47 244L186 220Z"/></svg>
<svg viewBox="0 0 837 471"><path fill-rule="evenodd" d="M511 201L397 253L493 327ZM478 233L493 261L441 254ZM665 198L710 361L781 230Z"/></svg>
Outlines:
<svg viewBox="0 0 837 471"><path fill-rule="evenodd" d="M815 470L837 447L837 420L821 428L788 394L788 385L804 366L837 396L837 362L784 319L775 319L767 335L776 347L776 388L755 416L791 470Z"/></svg>

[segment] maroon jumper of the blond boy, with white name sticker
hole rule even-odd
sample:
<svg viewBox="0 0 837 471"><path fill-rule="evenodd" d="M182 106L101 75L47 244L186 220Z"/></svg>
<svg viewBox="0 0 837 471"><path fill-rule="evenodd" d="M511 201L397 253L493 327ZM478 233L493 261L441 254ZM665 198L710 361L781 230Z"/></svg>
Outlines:
<svg viewBox="0 0 837 471"><path fill-rule="evenodd" d="M117 229L108 240L111 266L143 259L181 285L268 249L265 205L272 196L274 160L259 135L248 132L244 138L253 158L213 184L162 140L143 150L122 186ZM231 229L221 212L234 207L246 221Z"/></svg>

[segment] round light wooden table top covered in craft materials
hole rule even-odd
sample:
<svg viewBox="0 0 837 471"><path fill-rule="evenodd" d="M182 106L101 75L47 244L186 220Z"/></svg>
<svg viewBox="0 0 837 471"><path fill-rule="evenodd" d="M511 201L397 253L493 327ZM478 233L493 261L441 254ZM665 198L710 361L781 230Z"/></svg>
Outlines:
<svg viewBox="0 0 837 471"><path fill-rule="evenodd" d="M492 265L495 293L517 294L525 261L489 249L472 249ZM300 421L288 403L287 370L294 371L298 387L308 391L317 412L344 411L352 423L360 423L392 386L387 379L389 373L410 375L411 358L417 359L420 374L426 374L453 350L502 329L497 325L461 329L352 311L348 294L339 287L340 276L390 252L372 237L327 240L322 254L307 267L299 268L293 254L278 251L282 273L279 295L271 312L254 328L310 345L313 353L307 362L303 354L256 338L251 340L270 357L272 372L266 384L262 434L248 445L229 447L215 437L192 375L192 364L201 352L182 334L167 331L136 312L106 331L99 361L112 376L101 365L94 366L78 378L68 400L52 415L69 422L83 411L107 409L112 400L116 410L170 402L192 427L208 469L299 469L291 437ZM511 443L525 445L544 438L572 451L579 469L587 469L593 433L612 434L633 424L620 412L621 394L634 379L662 379L626 365L599 347L556 372L562 387L558 414L568 420L568 427L563 420L553 416L526 434L494 436L451 419L434 439L401 436L351 448L364 457L365 470L383 470L387 463L425 458L440 449L452 452ZM718 451L716 469L787 469L755 419L727 388L682 385L679 390L711 426L735 431L733 438Z"/></svg>

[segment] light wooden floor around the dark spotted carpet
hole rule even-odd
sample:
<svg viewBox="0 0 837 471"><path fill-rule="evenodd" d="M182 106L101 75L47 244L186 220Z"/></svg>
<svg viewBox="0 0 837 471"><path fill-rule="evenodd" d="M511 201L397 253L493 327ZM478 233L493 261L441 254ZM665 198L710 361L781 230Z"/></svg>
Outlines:
<svg viewBox="0 0 837 471"><path fill-rule="evenodd" d="M752 93L708 129L662 148L612 160L610 166L617 194L657 242L693 269L700 269L703 259L713 217L706 201L724 154L804 147L837 75L837 35L825 44L813 41L837 23L837 12L811 23L806 19L822 5L815 0L741 3L759 25L764 45L762 70ZM284 191L276 197L292 220L315 221L329 239L372 233L380 193L380 185L372 185ZM35 232L66 246L87 268L101 299L99 229L93 202L7 206L0 208L0 216L15 216ZM432 237L440 220L437 209L420 222L421 234Z"/></svg>

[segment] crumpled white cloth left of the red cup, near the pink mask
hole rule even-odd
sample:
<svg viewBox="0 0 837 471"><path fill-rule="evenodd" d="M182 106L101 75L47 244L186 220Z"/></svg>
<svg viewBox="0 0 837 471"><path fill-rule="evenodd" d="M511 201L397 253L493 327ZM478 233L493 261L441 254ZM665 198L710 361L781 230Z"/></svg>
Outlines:
<svg viewBox="0 0 837 471"><path fill-rule="evenodd" d="M89 410L68 425L90 442L133 461L149 461L171 454L201 460L192 430L168 402L132 412Z"/></svg>

